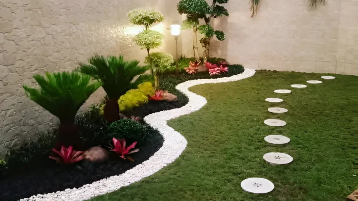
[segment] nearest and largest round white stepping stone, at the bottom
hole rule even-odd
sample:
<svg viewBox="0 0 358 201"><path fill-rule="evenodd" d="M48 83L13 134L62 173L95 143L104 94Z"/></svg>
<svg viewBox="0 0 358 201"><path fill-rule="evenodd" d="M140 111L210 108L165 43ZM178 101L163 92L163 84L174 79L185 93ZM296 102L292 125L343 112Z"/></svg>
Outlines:
<svg viewBox="0 0 358 201"><path fill-rule="evenodd" d="M275 185L265 178L248 178L241 182L241 188L250 193L269 193Z"/></svg>

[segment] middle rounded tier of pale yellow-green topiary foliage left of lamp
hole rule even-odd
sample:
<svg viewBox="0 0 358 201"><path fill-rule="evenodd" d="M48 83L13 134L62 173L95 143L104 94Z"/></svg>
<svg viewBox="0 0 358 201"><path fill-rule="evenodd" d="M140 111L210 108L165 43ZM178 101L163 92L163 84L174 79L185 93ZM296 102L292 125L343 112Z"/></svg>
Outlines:
<svg viewBox="0 0 358 201"><path fill-rule="evenodd" d="M158 31L144 30L134 37L134 42L142 49L154 49L162 45L163 38Z"/></svg>

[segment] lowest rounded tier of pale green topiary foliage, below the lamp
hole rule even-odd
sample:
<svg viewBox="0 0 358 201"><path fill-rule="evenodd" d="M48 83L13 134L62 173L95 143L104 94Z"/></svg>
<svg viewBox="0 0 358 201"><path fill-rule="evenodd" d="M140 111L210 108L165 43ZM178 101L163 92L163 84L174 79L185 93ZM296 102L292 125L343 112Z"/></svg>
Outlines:
<svg viewBox="0 0 358 201"><path fill-rule="evenodd" d="M146 57L145 63L149 64L150 59L153 64L153 69L156 72L164 72L174 63L173 56L164 52L151 53L150 58L148 56Z"/></svg>

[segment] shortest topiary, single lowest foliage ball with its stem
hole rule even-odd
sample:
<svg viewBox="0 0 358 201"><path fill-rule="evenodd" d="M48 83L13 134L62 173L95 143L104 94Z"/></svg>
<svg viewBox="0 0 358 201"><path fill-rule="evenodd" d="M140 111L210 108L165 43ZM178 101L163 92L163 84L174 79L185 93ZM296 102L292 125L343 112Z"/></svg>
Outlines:
<svg viewBox="0 0 358 201"><path fill-rule="evenodd" d="M155 78L155 90L159 90L159 75L165 70L169 69L173 63L173 56L168 53L155 52L151 53L150 57L147 56L145 63L152 63Z"/></svg>

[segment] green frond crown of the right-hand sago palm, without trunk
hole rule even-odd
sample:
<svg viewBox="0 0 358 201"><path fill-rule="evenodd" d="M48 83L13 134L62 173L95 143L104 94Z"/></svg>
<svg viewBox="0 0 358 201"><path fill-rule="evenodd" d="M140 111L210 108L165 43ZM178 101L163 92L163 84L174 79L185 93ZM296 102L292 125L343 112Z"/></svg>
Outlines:
<svg viewBox="0 0 358 201"><path fill-rule="evenodd" d="M97 80L101 80L102 87L110 99L118 99L128 90L136 88L142 79L133 82L134 77L144 74L149 67L138 66L139 61L125 61L123 56L96 55L89 59L88 64L80 64L79 70ZM148 79L143 79L147 81ZM137 84L136 86L134 86Z"/></svg>

